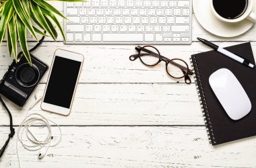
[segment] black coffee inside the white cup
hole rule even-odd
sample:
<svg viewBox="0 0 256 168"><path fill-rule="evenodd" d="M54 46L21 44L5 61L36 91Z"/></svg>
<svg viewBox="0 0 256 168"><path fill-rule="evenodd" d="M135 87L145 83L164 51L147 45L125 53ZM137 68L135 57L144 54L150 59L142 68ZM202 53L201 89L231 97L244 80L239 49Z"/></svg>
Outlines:
<svg viewBox="0 0 256 168"><path fill-rule="evenodd" d="M245 13L248 0L213 0L216 12L226 19L236 19Z"/></svg>

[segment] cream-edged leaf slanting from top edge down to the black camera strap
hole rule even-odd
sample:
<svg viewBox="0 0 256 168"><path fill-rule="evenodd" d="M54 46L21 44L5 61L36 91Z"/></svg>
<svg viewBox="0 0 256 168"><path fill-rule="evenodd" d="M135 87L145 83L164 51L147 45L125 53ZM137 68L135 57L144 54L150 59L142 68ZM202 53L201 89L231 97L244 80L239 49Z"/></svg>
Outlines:
<svg viewBox="0 0 256 168"><path fill-rule="evenodd" d="M30 17L28 16L28 13L26 13L26 11L24 10L24 6L22 5L22 2L20 0L18 1L12 0L12 2L20 20L22 20L22 22L24 23L26 28L30 31L32 36L36 39L36 41L38 41L38 38L36 37L36 33L34 32Z"/></svg>

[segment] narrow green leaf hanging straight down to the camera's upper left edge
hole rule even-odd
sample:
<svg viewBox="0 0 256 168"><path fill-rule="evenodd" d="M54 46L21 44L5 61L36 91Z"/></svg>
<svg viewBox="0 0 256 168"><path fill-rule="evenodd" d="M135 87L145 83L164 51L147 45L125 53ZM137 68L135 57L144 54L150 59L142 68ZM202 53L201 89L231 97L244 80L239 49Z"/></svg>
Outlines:
<svg viewBox="0 0 256 168"><path fill-rule="evenodd" d="M13 50L13 54L14 54L14 58L17 62L17 32L16 32L16 27L15 27L15 22L16 22L16 15L13 15L13 17L11 17L11 20L9 21L8 24L8 30L9 30L9 36L10 36L10 40L11 40L11 46L12 46L12 50Z"/></svg>

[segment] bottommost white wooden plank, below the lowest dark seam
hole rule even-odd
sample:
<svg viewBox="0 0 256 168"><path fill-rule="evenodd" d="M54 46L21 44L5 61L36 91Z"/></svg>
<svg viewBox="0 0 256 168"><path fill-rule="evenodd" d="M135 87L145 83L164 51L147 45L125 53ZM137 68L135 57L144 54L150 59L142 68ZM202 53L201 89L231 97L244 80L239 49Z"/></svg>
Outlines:
<svg viewBox="0 0 256 168"><path fill-rule="evenodd" d="M61 144L49 149L42 160L37 158L38 151L26 151L18 143L22 167L256 167L255 137L214 147L208 143L203 127L62 127L62 130ZM1 127L1 144L8 131L7 127ZM18 167L15 138L0 167Z"/></svg>

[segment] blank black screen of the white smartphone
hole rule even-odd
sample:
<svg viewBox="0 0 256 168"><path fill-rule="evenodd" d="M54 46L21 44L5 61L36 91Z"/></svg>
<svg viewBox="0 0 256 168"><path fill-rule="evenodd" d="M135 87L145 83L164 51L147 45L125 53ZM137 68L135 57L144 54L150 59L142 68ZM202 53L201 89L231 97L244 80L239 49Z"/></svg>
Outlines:
<svg viewBox="0 0 256 168"><path fill-rule="evenodd" d="M82 62L55 56L44 103L70 108Z"/></svg>

